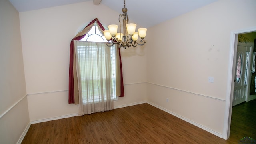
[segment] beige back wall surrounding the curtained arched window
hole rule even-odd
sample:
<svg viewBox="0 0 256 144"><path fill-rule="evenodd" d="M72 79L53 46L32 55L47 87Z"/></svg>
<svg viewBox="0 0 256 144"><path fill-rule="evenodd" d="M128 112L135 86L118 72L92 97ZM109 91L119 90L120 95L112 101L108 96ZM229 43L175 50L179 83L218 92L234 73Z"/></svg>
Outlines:
<svg viewBox="0 0 256 144"><path fill-rule="evenodd" d="M78 113L68 104L70 41L94 18L105 26L118 24L118 14L92 1L20 13L30 121ZM146 102L145 48L122 48L121 54L125 97L114 102L115 108Z"/></svg>

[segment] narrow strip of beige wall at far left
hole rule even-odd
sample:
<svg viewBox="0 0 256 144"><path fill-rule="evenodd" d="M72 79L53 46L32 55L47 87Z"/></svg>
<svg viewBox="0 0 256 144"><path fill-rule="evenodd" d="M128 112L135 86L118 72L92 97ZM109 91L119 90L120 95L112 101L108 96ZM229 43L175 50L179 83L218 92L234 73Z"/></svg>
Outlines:
<svg viewBox="0 0 256 144"><path fill-rule="evenodd" d="M15 144L30 121L19 13L8 0L0 0L0 68L0 143Z"/></svg>

